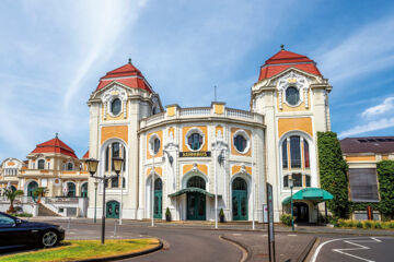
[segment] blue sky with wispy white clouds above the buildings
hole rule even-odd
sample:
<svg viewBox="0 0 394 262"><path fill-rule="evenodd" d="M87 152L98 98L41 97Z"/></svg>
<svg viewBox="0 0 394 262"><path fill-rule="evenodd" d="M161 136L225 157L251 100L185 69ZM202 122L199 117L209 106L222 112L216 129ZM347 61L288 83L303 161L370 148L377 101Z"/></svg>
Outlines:
<svg viewBox="0 0 394 262"><path fill-rule="evenodd" d="M306 55L333 85L341 138L393 135L393 1L2 1L0 159L56 132L88 148L88 98L132 58L163 105L219 100L248 109L259 67L279 50Z"/></svg>

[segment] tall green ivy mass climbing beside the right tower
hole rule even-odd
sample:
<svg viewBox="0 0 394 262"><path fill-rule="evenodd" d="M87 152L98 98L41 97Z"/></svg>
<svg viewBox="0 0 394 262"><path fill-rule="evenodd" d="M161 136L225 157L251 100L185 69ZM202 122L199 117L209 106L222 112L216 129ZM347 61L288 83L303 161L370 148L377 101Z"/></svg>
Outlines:
<svg viewBox="0 0 394 262"><path fill-rule="evenodd" d="M348 201L348 165L343 157L340 144L335 132L317 132L318 167L322 189L334 195L327 207L334 216L347 218Z"/></svg>

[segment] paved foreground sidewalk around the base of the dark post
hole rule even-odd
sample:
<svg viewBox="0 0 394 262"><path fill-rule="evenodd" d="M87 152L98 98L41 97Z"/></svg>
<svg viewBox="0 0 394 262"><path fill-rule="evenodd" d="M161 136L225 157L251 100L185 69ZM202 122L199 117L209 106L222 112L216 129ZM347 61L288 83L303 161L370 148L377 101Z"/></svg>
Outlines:
<svg viewBox="0 0 394 262"><path fill-rule="evenodd" d="M245 248L248 252L247 261L269 261L266 234L234 233L222 237ZM314 241L312 235L276 234L276 261L303 261L304 252L312 248Z"/></svg>

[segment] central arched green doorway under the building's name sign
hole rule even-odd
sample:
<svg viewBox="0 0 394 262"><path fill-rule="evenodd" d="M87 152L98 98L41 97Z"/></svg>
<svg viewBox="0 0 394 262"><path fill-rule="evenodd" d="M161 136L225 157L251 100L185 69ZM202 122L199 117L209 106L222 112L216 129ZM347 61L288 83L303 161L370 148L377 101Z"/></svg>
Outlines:
<svg viewBox="0 0 394 262"><path fill-rule="evenodd" d="M206 189L206 181L198 176L187 180L187 188ZM199 192L187 193L187 211L186 218L188 221L205 221L206 219L206 195Z"/></svg>

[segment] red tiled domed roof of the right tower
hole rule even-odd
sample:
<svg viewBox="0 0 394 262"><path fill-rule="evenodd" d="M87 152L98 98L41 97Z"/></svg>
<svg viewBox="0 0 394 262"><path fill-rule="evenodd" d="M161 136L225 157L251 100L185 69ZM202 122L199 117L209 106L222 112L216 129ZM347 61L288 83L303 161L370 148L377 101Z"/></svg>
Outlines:
<svg viewBox="0 0 394 262"><path fill-rule="evenodd" d="M306 56L296 52L280 50L269 58L260 69L258 81L269 79L278 73L283 72L288 68L297 68L308 73L322 75L316 68L316 62Z"/></svg>

